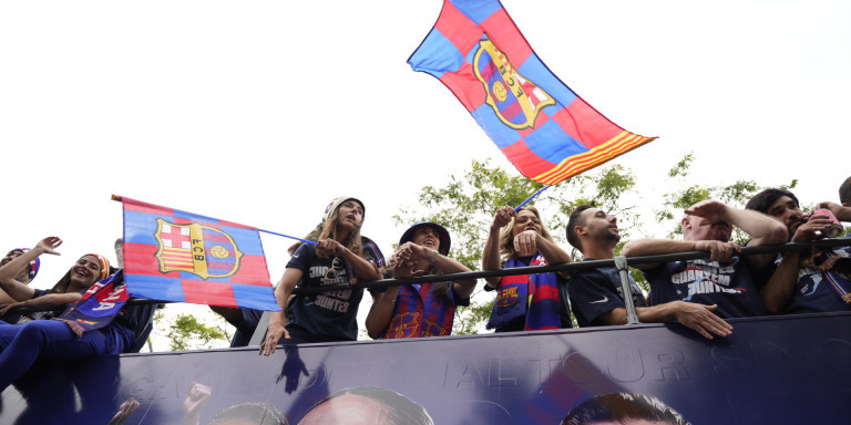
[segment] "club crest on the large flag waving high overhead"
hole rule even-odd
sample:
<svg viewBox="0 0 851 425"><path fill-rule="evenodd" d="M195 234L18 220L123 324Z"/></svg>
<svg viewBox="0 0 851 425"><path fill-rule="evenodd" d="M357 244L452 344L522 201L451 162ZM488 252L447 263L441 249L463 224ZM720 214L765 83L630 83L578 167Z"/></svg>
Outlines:
<svg viewBox="0 0 851 425"><path fill-rule="evenodd" d="M475 77L484 84L485 103L505 125L531 128L544 106L555 100L515 70L509 58L488 39L479 42L473 59Z"/></svg>

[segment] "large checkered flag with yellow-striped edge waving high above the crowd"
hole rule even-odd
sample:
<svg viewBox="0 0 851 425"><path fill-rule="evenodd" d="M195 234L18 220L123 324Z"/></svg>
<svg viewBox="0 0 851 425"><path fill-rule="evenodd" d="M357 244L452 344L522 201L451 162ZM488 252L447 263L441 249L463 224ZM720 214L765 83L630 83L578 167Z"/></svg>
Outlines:
<svg viewBox="0 0 851 425"><path fill-rule="evenodd" d="M520 173L541 184L654 138L621 128L562 83L498 0L444 0L408 63L440 79Z"/></svg>

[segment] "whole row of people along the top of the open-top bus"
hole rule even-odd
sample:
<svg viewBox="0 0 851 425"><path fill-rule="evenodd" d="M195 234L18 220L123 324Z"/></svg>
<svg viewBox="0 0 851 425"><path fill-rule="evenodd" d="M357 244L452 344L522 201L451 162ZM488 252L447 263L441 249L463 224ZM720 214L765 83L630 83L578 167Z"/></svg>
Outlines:
<svg viewBox="0 0 851 425"><path fill-rule="evenodd" d="M366 207L353 197L334 199L321 221L290 247L290 260L275 287L281 310L269 314L259 353L279 344L353 341L365 289L359 282L470 271L450 257L451 236L435 222L420 221L399 239L386 261L378 245L360 234ZM706 200L685 210L683 240L638 239L623 246L626 257L707 251L709 258L634 265L649 294L629 278L625 296L614 267L504 276L485 279L495 292L488 329L495 332L603 326L627 322L625 297L642 322L677 321L707 339L727 336L726 319L851 310L851 247L742 255L730 241L734 227L748 235L745 246L809 242L834 236L851 221L851 177L840 203L824 201L803 212L787 189L766 189L746 208ZM592 205L575 208L565 236L583 261L613 259L621 241L617 218ZM0 260L0 390L41 361L71 361L139 350L150 332L154 304L126 303L123 276L105 257L86 253L50 290L33 289L40 256L57 253L62 240L48 237L32 249L12 249ZM496 210L482 255L483 270L570 263L531 206ZM424 281L424 280L420 280ZM348 284L346 289L338 289ZM296 288L336 289L312 294ZM373 339L449 335L458 305L468 305L475 279L369 288L372 305L366 329ZM296 293L294 293L296 292ZM111 302L93 325L80 326L91 300ZM119 302L120 301L120 302ZM24 309L21 309L24 308ZM263 312L214 307L235 325L232 346L248 345Z"/></svg>

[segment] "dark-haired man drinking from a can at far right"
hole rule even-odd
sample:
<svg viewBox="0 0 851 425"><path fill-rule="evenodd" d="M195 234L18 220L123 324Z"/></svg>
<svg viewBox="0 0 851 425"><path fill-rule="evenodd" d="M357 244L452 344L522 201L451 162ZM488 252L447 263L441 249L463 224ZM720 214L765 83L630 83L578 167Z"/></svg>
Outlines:
<svg viewBox="0 0 851 425"><path fill-rule="evenodd" d="M786 226L792 242L819 240L833 224L828 215L803 214L798 197L786 189L762 190L748 200L746 208L763 212ZM830 210L841 221L851 221L851 207L847 205L821 203L818 208ZM851 247L782 252L772 269L761 290L769 313L851 310Z"/></svg>

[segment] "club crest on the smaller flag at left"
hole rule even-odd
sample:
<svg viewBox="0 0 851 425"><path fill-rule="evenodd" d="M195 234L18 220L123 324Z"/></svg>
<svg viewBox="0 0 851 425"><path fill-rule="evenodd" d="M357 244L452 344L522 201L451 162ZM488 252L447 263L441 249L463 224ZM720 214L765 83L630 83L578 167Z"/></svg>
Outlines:
<svg viewBox="0 0 851 425"><path fill-rule="evenodd" d="M202 279L227 278L239 270L243 252L221 229L192 222L175 225L156 219L154 237L160 248L160 271L186 271Z"/></svg>

